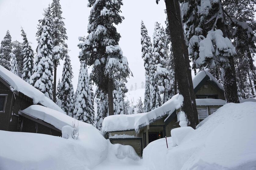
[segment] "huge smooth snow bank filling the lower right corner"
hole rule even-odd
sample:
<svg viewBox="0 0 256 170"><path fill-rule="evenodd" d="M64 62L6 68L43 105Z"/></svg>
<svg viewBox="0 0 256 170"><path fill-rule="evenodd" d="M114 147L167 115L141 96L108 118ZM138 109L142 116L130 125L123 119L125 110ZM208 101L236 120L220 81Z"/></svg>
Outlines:
<svg viewBox="0 0 256 170"><path fill-rule="evenodd" d="M226 104L198 124L180 141L166 148L165 139L143 151L148 169L256 169L256 104ZM172 146L172 137L167 138Z"/></svg>

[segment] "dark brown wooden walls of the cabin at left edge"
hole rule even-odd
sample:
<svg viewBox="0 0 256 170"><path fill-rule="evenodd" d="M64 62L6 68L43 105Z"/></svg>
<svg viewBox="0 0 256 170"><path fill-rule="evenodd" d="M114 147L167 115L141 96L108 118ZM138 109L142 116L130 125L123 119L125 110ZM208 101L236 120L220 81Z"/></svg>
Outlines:
<svg viewBox="0 0 256 170"><path fill-rule="evenodd" d="M0 69L5 69L5 68L0 66ZM23 114L22 112L20 112L20 110L24 110L27 107L33 105L33 100L27 95L19 91L13 90L11 87L11 83L9 83L7 80L3 78L4 76L6 76L6 74L1 75L2 73L1 71L0 71L0 130L14 131L14 132L31 132L31 133L41 133L41 134L49 134L54 136L61 136L61 131L55 128L54 126L52 126L51 124L48 124L42 120L28 116L27 114ZM8 70L5 69L3 71L5 71L6 73ZM21 79L20 77L14 75L11 72L9 74L11 74L11 77L14 77L15 79ZM43 105L41 103L37 103L37 104Z"/></svg>

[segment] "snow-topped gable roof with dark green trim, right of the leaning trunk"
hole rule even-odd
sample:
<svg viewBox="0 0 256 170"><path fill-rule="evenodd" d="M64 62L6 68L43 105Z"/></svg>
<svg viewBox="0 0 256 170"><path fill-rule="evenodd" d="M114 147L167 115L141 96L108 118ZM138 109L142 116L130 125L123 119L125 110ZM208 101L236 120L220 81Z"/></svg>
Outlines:
<svg viewBox="0 0 256 170"><path fill-rule="evenodd" d="M207 82L224 95L224 87L208 71L198 72L192 81L195 93Z"/></svg>

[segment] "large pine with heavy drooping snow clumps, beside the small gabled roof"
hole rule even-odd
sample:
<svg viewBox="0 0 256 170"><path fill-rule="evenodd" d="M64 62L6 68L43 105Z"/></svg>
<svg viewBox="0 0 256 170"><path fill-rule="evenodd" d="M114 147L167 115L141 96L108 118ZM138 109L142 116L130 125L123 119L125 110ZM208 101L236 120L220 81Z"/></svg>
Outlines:
<svg viewBox="0 0 256 170"><path fill-rule="evenodd" d="M234 66L236 50L229 39L221 0L181 2L189 54L194 57L193 67L216 70L220 66L226 101L239 103Z"/></svg>

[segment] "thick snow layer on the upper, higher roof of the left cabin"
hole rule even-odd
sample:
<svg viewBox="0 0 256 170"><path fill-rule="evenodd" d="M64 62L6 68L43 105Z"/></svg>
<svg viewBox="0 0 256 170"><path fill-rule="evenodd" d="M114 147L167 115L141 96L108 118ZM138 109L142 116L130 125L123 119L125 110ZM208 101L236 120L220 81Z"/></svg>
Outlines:
<svg viewBox="0 0 256 170"><path fill-rule="evenodd" d="M63 110L55 104L51 99L45 97L44 94L31 86L29 83L21 79L19 76L13 74L9 70L5 69L3 66L0 65L0 77L2 77L7 83L12 86L13 90L21 92L26 96L33 99L34 104L42 104L45 107L49 107L54 110L58 110L62 113Z"/></svg>

